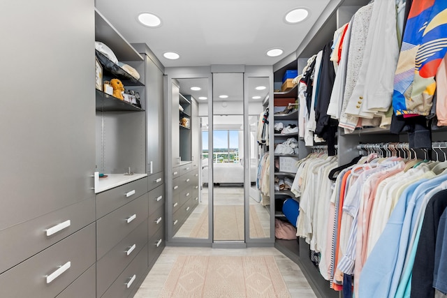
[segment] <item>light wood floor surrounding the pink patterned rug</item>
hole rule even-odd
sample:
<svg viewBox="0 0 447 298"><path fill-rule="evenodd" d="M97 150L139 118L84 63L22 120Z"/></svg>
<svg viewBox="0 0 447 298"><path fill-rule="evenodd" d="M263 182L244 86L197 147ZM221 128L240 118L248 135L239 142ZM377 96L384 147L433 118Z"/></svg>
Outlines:
<svg viewBox="0 0 447 298"><path fill-rule="evenodd" d="M143 281L135 294L135 298L156 298L163 288L169 272L179 255L273 255L277 261L279 271L287 285L288 292L293 298L316 297L300 267L288 259L276 248L197 248L197 247L166 247L156 261L154 267Z"/></svg>

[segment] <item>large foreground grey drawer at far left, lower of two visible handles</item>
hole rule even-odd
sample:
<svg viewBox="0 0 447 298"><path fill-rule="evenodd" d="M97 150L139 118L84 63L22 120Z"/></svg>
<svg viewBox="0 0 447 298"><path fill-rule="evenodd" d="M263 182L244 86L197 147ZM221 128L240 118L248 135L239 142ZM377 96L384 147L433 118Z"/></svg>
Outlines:
<svg viewBox="0 0 447 298"><path fill-rule="evenodd" d="M95 224L0 275L0 297L55 297L95 262Z"/></svg>

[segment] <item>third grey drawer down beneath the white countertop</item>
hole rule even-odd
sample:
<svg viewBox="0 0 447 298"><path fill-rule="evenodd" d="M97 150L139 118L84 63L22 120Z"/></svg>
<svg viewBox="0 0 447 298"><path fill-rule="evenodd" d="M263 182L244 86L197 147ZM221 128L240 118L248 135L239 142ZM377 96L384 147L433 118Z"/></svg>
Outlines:
<svg viewBox="0 0 447 298"><path fill-rule="evenodd" d="M96 263L96 295L101 297L123 269L147 244L147 220L138 225ZM128 254L129 253L129 254Z"/></svg>

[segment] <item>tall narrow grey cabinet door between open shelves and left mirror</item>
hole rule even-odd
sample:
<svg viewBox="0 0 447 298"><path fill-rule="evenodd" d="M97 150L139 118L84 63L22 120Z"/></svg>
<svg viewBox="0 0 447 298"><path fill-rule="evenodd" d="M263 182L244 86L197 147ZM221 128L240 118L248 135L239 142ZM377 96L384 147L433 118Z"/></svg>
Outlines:
<svg viewBox="0 0 447 298"><path fill-rule="evenodd" d="M146 86L149 86L146 105L147 173L154 174L163 171L164 168L163 72L148 57L146 57Z"/></svg>

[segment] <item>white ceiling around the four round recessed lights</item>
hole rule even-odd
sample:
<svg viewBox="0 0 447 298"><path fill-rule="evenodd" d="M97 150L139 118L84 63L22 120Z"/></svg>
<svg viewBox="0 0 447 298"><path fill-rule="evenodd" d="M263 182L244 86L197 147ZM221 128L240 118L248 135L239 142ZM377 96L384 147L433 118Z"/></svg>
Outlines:
<svg viewBox="0 0 447 298"><path fill-rule="evenodd" d="M333 1L333 0L332 0ZM298 46L330 0L96 0L96 8L129 41L147 43L165 67L212 64L274 65ZM307 8L307 20L287 24L293 8ZM161 18L144 27L139 13ZM279 57L265 53L284 50ZM168 60L164 52L177 52Z"/></svg>

